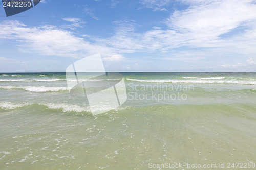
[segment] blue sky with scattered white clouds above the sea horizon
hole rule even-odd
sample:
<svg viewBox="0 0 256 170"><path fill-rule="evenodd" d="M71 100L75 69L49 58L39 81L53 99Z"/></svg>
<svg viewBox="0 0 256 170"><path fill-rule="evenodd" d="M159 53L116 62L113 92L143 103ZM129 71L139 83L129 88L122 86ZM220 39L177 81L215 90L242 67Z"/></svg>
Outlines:
<svg viewBox="0 0 256 170"><path fill-rule="evenodd" d="M255 72L255 0L41 0L6 17L0 72L65 72L101 54L114 72Z"/></svg>

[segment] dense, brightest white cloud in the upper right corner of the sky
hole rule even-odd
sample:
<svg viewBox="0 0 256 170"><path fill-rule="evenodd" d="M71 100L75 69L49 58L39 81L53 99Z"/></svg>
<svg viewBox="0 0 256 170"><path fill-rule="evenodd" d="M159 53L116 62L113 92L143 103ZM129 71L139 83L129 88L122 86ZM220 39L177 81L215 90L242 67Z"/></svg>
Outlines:
<svg viewBox="0 0 256 170"><path fill-rule="evenodd" d="M216 39L246 21L255 20L253 11L255 5L248 1L214 1L206 5L192 6L184 11L175 11L167 25L183 33L190 32L196 36Z"/></svg>

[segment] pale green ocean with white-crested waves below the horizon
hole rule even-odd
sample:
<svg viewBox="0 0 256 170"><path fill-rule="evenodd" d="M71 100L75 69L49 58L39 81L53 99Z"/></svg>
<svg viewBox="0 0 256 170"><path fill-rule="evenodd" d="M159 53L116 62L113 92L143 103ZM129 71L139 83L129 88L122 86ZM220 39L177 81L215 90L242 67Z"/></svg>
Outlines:
<svg viewBox="0 0 256 170"><path fill-rule="evenodd" d="M93 116L65 73L0 74L0 169L254 169L256 73L122 75Z"/></svg>

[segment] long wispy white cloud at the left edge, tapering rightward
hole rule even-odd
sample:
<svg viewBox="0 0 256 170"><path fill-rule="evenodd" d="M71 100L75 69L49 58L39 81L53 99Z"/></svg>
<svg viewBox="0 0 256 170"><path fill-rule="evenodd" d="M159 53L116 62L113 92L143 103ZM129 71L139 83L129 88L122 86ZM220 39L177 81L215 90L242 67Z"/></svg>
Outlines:
<svg viewBox="0 0 256 170"><path fill-rule="evenodd" d="M23 52L77 58L113 53L109 47L92 44L56 26L28 27L19 21L4 21L0 28L0 38L20 42Z"/></svg>

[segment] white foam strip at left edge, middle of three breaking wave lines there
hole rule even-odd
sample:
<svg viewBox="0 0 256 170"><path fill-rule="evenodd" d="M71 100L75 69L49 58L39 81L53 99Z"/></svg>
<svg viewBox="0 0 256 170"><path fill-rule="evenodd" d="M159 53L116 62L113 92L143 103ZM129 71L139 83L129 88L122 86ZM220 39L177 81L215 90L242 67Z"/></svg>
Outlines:
<svg viewBox="0 0 256 170"><path fill-rule="evenodd" d="M68 87L45 87L45 86L0 86L3 89L24 89L33 92L65 91Z"/></svg>

